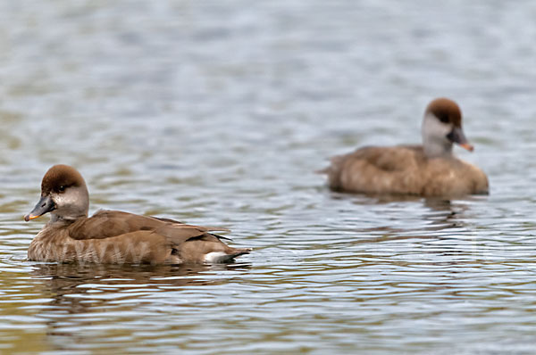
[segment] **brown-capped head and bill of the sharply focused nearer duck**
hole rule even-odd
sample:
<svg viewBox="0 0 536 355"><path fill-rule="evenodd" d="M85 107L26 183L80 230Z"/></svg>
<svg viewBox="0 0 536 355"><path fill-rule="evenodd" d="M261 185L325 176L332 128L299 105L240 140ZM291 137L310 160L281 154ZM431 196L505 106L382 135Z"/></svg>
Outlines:
<svg viewBox="0 0 536 355"><path fill-rule="evenodd" d="M41 182L41 198L24 220L37 219L47 212L51 220L88 217L89 195L84 178L68 165L54 165Z"/></svg>

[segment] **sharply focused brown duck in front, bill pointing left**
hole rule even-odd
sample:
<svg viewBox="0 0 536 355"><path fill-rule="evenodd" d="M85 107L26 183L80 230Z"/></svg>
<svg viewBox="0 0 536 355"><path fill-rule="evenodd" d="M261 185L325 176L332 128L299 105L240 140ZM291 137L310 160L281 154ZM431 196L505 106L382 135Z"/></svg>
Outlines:
<svg viewBox="0 0 536 355"><path fill-rule="evenodd" d="M101 210L88 217L89 194L77 169L58 164L46 171L38 203L24 220L50 213L28 249L28 259L98 264L229 263L251 248L233 248L214 231L174 219Z"/></svg>

